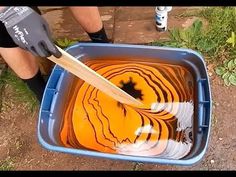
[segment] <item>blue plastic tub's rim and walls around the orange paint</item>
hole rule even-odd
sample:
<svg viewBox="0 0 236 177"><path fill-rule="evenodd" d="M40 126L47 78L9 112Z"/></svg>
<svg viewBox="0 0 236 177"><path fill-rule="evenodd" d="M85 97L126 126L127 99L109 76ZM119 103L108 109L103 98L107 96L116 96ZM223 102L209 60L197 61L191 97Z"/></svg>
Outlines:
<svg viewBox="0 0 236 177"><path fill-rule="evenodd" d="M210 135L212 101L209 78L204 59L201 55L189 49L94 43L79 43L69 47L66 51L78 59L84 54L91 57L104 55L120 56L124 54L126 56L159 58L158 62L178 64L188 68L194 76L194 84L196 85L195 95L197 96L194 103L194 144L191 152L179 160L108 154L61 146L58 143L59 127L65 106L64 103L66 103L69 94L69 83L72 82L75 76L56 65L49 77L39 113L38 139L44 148L75 155L175 165L192 165L203 158Z"/></svg>

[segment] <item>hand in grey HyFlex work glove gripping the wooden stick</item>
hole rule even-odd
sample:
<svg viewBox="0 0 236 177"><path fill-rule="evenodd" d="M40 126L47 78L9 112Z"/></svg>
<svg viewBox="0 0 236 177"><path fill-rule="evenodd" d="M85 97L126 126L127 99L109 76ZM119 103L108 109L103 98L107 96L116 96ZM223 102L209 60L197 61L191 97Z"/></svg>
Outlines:
<svg viewBox="0 0 236 177"><path fill-rule="evenodd" d="M0 13L0 21L19 47L41 57L62 55L51 39L46 20L30 7L6 7Z"/></svg>

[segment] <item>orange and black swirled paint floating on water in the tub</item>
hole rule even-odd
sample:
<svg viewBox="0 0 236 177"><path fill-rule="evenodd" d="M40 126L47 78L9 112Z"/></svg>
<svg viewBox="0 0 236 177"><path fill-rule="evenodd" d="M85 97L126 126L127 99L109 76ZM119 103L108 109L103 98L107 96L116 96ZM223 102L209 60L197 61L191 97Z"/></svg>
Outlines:
<svg viewBox="0 0 236 177"><path fill-rule="evenodd" d="M66 147L180 159L192 147L194 84L182 66L137 59L84 63L122 88L130 78L144 106L132 107L76 79L60 131ZM137 99L140 99L137 98Z"/></svg>

